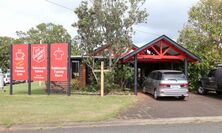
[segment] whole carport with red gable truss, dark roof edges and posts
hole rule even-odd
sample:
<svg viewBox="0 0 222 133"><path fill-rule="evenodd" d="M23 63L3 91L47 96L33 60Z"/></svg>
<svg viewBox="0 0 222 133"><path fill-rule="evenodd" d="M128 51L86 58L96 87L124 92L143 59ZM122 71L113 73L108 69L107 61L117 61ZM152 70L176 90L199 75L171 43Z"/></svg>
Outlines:
<svg viewBox="0 0 222 133"><path fill-rule="evenodd" d="M186 48L182 47L166 35L145 44L133 52L123 56L121 63L134 61L134 94L138 89L138 66L140 74L145 74L146 69L174 69L178 64L184 65L184 73L188 76L188 62L196 63L200 59Z"/></svg>

